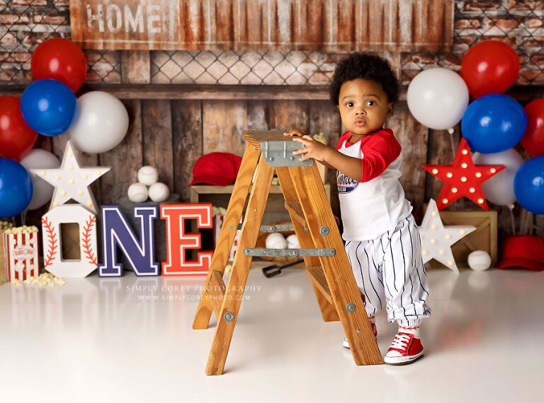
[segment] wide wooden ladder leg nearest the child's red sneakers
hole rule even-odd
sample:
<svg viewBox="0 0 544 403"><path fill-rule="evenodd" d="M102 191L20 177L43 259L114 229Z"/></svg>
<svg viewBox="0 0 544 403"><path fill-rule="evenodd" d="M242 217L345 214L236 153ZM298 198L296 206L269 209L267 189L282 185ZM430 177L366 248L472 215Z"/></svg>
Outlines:
<svg viewBox="0 0 544 403"><path fill-rule="evenodd" d="M353 361L357 365L383 363L317 165L288 169L314 245L336 250L334 256L319 259L348 338ZM322 230L323 227L327 230Z"/></svg>

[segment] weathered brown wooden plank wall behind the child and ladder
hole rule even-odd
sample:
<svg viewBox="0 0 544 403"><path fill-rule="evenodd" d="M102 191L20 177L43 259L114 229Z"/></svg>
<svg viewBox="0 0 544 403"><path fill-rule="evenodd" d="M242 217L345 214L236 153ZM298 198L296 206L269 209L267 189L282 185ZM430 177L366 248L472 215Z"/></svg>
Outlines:
<svg viewBox="0 0 544 403"><path fill-rule="evenodd" d="M346 0L349 3L348 0ZM344 2L346 2L344 1ZM247 4L248 7L255 4ZM374 5L375 6L375 5ZM433 2L413 5L421 18L429 12L436 18ZM432 11L432 12L431 12ZM248 21L248 24L254 21ZM418 30L417 21L414 29ZM297 30L296 27L293 28ZM400 74L398 52L384 52ZM205 153L225 151L242 155L243 132L246 129L304 129L310 134L323 132L329 145L336 146L341 125L336 108L328 101L328 86L203 86L149 84L149 51L123 51L121 85L93 86L86 84L81 92L104 90L123 100L130 116L130 127L123 142L108 153L89 156L83 153L84 165L111 166L112 170L91 186L99 204L118 204L128 186L137 181L137 170L142 165L154 165L159 180L180 195L183 202L190 200L188 185L192 180L193 165ZM21 88L13 95L21 95ZM517 91L517 92L516 92ZM509 94L526 103L538 98L540 88L514 90ZM405 91L393 115L387 121L403 147L401 182L407 199L414 205L414 214L421 216L424 203L436 199L442 182L428 175L422 163L450 163L453 158L450 135L422 126L409 113ZM455 127L453 143L460 140L460 127ZM62 158L67 135L39 136L36 148L52 151ZM127 163L130 161L130 163ZM336 182L334 170L328 170L329 183ZM331 204L339 214L337 189L331 186ZM28 212L27 223L39 225L47 206ZM474 208L464 198L453 204L453 209ZM511 233L511 218L506 207L492 206L499 211L499 229ZM518 211L519 210L519 211ZM521 228L519 207L516 228ZM540 216L536 216L537 230L544 231ZM532 222L531 222L532 224ZM542 228L542 229L540 229Z"/></svg>

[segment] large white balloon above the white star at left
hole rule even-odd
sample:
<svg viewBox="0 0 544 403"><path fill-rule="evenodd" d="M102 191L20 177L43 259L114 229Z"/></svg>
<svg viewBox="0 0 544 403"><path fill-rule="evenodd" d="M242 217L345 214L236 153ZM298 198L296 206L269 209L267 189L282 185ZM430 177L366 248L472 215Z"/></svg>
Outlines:
<svg viewBox="0 0 544 403"><path fill-rule="evenodd" d="M91 91L77 99L77 117L69 129L79 151L98 154L110 151L125 138L128 112L113 95Z"/></svg>

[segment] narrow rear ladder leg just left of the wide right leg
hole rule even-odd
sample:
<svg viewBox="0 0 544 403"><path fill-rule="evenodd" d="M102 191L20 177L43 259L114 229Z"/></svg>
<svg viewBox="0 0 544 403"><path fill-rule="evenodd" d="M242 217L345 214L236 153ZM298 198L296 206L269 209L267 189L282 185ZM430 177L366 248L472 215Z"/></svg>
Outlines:
<svg viewBox="0 0 544 403"><path fill-rule="evenodd" d="M276 173L278 173L278 179L280 180L281 190L283 192L283 197L285 197L285 202L298 202L295 185L293 185L288 168L276 168ZM302 224L300 224L294 217L291 217L291 222L295 227L295 233L297 234L297 240L300 243L300 247L308 249L314 248L314 241L312 240L310 231L304 230ZM319 257L317 256L307 256L304 258L304 262L306 267L321 265L321 262L319 262ZM312 287L314 288L315 298L317 299L317 304L319 305L319 310L321 310L321 316L323 317L324 322L334 322L336 320L340 320L334 305L329 303L327 298L323 296L322 292L319 291L313 283Z"/></svg>

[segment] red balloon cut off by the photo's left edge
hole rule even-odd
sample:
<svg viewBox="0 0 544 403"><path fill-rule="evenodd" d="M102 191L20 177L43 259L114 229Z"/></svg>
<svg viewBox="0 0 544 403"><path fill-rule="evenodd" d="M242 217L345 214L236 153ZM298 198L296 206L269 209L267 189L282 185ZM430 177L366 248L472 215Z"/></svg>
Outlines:
<svg viewBox="0 0 544 403"><path fill-rule="evenodd" d="M18 160L25 156L38 139L21 114L21 100L0 96L0 156Z"/></svg>

